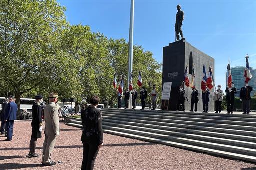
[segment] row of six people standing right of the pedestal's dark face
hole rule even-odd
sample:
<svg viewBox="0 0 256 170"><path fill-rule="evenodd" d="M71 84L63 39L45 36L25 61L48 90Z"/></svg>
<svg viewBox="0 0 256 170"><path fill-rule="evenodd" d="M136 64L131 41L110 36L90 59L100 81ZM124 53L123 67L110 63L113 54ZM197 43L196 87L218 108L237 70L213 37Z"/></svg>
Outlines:
<svg viewBox="0 0 256 170"><path fill-rule="evenodd" d="M192 93L191 93L191 109L189 111L197 112L197 103L199 101L199 91L196 89L195 86L192 87ZM249 114L250 113L250 93L252 91L252 87L249 86L247 83L245 83L245 86L241 88L240 90L240 101L242 101L243 106L243 113L242 114ZM237 93L236 87L234 87L234 82L232 82L232 86L230 88L226 87L225 89L226 93L226 106L227 106L227 114L232 114L234 111L234 98L235 93ZM203 105L203 111L207 113L209 109L209 101L210 101L210 90L207 88L205 91L202 91L202 105ZM214 103L216 112L215 113L221 113L222 111L222 101L223 101L223 90L221 89L221 85L217 86L217 89L214 92ZM178 111L185 111L185 89L183 86L180 86L178 90L178 103L177 103L177 109Z"/></svg>

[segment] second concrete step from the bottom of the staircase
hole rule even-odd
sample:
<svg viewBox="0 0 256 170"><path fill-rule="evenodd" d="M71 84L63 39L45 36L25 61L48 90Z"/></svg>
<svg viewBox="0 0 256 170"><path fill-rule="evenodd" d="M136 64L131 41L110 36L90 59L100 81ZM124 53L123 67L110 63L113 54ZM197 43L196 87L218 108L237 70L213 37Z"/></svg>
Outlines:
<svg viewBox="0 0 256 170"><path fill-rule="evenodd" d="M138 130L120 128L120 127L111 127L111 126L106 126L106 125L103 125L102 127L103 127L103 129L108 129L108 130L112 130L112 131L124 132L124 133L129 133L129 134L145 136L145 137L158 138L158 139L162 139L162 140L173 141L173 142L177 142L177 143L189 144L189 145L200 146L200 147L206 147L206 148L210 148L210 149L222 150L222 151L232 152L232 153L236 153L236 154L255 156L255 153L256 153L256 150L251 149L251 148L238 147L238 146L219 144L219 143L212 143L212 142L188 139L188 138L183 138L183 137L173 137L173 136L158 134L158 133L153 133L153 132L138 131Z"/></svg>

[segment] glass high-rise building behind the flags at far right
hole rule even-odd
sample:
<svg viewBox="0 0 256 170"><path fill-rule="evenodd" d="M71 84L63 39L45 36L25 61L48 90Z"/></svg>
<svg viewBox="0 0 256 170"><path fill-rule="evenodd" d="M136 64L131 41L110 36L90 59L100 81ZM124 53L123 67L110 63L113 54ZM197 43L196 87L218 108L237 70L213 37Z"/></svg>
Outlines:
<svg viewBox="0 0 256 170"><path fill-rule="evenodd" d="M241 87L244 87L245 78L244 78L244 66L236 66L231 68L232 73L232 81L234 82L234 86L237 88L237 93L235 94L236 97L240 95ZM250 72L252 74L252 79L249 81L249 85L253 87L253 91L251 96L256 94L256 69L252 69L250 67ZM226 72L226 86L227 86L227 72Z"/></svg>

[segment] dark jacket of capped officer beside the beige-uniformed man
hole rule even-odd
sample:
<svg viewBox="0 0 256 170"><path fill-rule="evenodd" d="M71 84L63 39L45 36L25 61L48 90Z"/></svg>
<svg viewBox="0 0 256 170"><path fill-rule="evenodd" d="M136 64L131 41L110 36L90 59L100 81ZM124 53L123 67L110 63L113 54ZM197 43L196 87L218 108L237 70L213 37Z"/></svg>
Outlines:
<svg viewBox="0 0 256 170"><path fill-rule="evenodd" d="M42 125L42 106L35 102L32 106L32 126L39 128Z"/></svg>

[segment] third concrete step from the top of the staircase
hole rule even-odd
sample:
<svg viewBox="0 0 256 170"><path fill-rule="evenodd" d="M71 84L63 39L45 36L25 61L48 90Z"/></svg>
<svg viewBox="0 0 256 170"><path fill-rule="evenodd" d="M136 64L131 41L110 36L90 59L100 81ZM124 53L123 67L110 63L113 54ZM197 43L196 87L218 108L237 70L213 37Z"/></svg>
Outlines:
<svg viewBox="0 0 256 170"><path fill-rule="evenodd" d="M143 120L143 121L154 121L154 122L165 122L165 123L177 123L177 124L188 124L188 125L198 125L206 127L217 127L217 128L228 128L236 130L246 130L246 131L256 131L256 126L241 126L232 124L218 124L218 123L207 123L199 121L186 121L186 120L173 120L173 119L162 119L162 118L151 118L151 117L137 117L137 116L125 116L125 115L112 115L103 113L103 117L108 117L108 119L119 119L126 118L128 121Z"/></svg>

